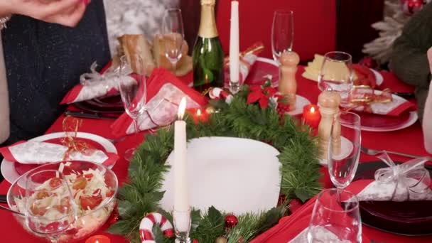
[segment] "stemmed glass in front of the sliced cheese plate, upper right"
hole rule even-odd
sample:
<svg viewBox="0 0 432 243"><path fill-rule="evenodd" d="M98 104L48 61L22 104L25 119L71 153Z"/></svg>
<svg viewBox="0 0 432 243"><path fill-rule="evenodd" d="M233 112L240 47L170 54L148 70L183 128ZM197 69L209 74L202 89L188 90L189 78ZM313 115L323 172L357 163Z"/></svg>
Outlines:
<svg viewBox="0 0 432 243"><path fill-rule="evenodd" d="M347 93L352 88L352 57L348 53L332 51L325 53L318 75L318 88Z"/></svg>

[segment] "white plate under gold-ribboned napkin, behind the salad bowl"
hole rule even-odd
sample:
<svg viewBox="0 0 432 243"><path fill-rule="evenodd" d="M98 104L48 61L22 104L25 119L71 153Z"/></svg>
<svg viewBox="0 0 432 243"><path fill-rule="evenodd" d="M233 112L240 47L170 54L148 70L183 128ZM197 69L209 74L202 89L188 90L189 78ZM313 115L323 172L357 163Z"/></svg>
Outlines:
<svg viewBox="0 0 432 243"><path fill-rule="evenodd" d="M45 134L43 136L38 136L34 139L30 139L29 141L47 141L50 139L58 139L65 136L64 132L55 132L52 134ZM77 138L81 139L89 139L92 141L97 142L97 144L100 144L105 151L109 153L116 153L117 154L117 148L112 144L112 142L108 141L107 139L103 138L102 136L98 136L96 134L89 134L87 132L77 132ZM115 163L114 163L115 164ZM112 168L114 166L109 166L108 168ZM16 179L20 177L20 175L16 172L15 166L13 166L13 162L6 161L6 159L3 159L0 166L1 174L3 175L4 179L7 180L9 183L13 183Z"/></svg>

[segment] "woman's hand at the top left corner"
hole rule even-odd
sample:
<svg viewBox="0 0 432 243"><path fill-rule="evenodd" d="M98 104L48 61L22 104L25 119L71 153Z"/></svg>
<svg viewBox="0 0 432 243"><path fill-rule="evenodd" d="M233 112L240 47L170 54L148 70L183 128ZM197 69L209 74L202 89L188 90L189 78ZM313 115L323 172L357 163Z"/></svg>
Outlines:
<svg viewBox="0 0 432 243"><path fill-rule="evenodd" d="M80 22L86 5L84 0L1 0L0 16L16 13L73 27Z"/></svg>

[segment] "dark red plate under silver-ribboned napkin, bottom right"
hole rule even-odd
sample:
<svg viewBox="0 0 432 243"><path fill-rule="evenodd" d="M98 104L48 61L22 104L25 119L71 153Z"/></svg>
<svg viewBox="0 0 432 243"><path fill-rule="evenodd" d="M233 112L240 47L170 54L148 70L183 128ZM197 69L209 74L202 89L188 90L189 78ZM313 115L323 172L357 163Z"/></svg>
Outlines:
<svg viewBox="0 0 432 243"><path fill-rule="evenodd" d="M373 178L383 162L360 163L357 179ZM363 201L360 202L362 223L393 234L410 236L432 234L432 201Z"/></svg>

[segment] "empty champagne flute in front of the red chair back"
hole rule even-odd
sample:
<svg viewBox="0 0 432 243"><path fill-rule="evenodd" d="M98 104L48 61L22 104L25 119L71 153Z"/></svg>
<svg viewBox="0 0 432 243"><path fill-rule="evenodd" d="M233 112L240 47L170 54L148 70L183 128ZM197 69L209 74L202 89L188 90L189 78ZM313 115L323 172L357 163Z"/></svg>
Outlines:
<svg viewBox="0 0 432 243"><path fill-rule="evenodd" d="M278 63L284 51L293 50L293 14L293 11L289 10L277 10L274 12L273 26L271 27L271 51L273 59Z"/></svg>

